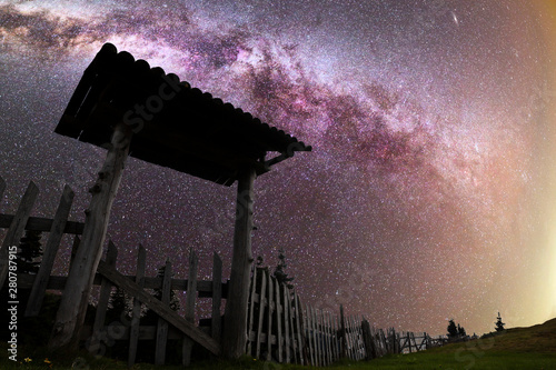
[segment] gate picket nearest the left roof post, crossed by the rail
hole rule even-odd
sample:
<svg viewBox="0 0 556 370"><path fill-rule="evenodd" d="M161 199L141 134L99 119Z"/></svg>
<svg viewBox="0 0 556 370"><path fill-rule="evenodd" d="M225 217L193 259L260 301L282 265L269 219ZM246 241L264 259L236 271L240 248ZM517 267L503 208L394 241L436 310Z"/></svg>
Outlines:
<svg viewBox="0 0 556 370"><path fill-rule="evenodd" d="M116 259L118 258L118 249L110 240L108 242L108 250L106 256L106 263L110 267L116 266ZM110 292L112 291L112 282L108 279L102 280L100 287L99 301L97 303L97 312L95 313L95 323L92 326L92 336L87 350L96 356L103 354L100 353L100 340L103 338L106 312L108 310L108 302L110 301Z"/></svg>

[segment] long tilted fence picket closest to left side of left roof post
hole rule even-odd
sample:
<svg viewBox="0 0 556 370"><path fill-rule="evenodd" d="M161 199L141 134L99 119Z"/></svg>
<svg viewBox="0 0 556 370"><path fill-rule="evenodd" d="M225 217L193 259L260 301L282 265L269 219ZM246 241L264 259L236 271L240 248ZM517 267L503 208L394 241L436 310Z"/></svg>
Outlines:
<svg viewBox="0 0 556 370"><path fill-rule="evenodd" d="M63 187L60 204L58 206L52 222L52 229L50 229L48 241L44 246L40 268L37 272L37 278L34 279L34 283L29 296L29 302L27 303L24 313L26 317L36 317L39 314L42 299L44 298L44 292L47 290L48 279L50 278L56 254L58 253L58 248L62 239L63 229L66 228L71 204L73 202L73 196L75 193L70 187Z"/></svg>

